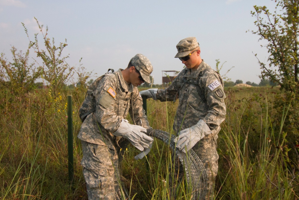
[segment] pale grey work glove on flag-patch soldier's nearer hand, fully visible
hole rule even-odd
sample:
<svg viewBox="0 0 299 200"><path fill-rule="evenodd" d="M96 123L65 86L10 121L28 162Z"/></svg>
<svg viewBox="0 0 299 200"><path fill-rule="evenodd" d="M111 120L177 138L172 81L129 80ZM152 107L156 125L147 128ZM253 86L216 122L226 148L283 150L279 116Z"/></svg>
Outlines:
<svg viewBox="0 0 299 200"><path fill-rule="evenodd" d="M125 119L120 123L120 127L113 133L113 135L122 136L128 139L132 145L140 151L149 148L149 145L154 141L154 139L145 134L147 130L144 127L130 124L129 121Z"/></svg>

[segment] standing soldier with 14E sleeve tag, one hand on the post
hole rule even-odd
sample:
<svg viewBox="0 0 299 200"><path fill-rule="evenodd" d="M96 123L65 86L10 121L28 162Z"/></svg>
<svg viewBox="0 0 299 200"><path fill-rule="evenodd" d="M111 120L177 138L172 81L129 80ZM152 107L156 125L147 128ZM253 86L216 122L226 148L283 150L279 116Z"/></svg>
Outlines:
<svg viewBox="0 0 299 200"><path fill-rule="evenodd" d="M184 152L192 148L199 156L209 176L206 199L213 199L219 158L217 138L226 114L224 85L220 74L202 60L195 37L181 40L176 48L175 58L186 67L169 88L149 89L140 94L160 101L179 98L173 124L177 133L176 147Z"/></svg>

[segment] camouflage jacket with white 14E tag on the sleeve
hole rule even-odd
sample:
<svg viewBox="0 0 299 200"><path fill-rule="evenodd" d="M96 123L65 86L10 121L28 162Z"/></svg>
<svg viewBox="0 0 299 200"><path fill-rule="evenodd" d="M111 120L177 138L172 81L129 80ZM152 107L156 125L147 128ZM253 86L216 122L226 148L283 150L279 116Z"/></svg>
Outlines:
<svg viewBox="0 0 299 200"><path fill-rule="evenodd" d="M200 97L196 85L199 85L205 99ZM202 119L212 131L210 135L212 136L219 133L220 124L225 120L226 96L223 87L219 73L202 60L196 71L183 69L168 88L159 89L157 99L173 101L178 96L179 106L173 124L176 133L197 124Z"/></svg>

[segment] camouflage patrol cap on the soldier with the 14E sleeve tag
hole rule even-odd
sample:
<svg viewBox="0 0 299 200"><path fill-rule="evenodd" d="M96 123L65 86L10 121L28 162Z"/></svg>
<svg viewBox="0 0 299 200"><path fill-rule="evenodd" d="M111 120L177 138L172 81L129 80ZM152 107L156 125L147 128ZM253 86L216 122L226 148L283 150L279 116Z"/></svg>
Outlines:
<svg viewBox="0 0 299 200"><path fill-rule="evenodd" d="M178 53L176 54L175 58L182 58L187 56L191 53L193 49L199 47L199 43L196 41L195 37L187 37L181 40L177 45L176 48L178 49Z"/></svg>

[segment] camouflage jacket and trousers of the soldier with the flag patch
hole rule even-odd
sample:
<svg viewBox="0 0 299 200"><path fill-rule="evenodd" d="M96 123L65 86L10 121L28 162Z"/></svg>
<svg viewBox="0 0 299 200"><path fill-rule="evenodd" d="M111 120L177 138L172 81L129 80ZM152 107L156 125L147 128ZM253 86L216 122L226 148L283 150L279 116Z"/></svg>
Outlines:
<svg viewBox="0 0 299 200"><path fill-rule="evenodd" d="M121 70L115 72L116 76L107 73L100 80L93 93L96 111L87 115L78 135L82 141L81 165L89 199L112 200L118 192L117 149L121 137L112 133L118 129L122 119L126 119L129 112L136 125L149 128L138 88L126 85ZM112 91L115 97L110 94Z"/></svg>

